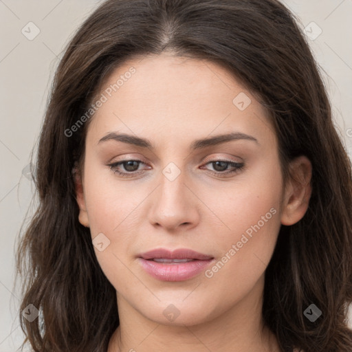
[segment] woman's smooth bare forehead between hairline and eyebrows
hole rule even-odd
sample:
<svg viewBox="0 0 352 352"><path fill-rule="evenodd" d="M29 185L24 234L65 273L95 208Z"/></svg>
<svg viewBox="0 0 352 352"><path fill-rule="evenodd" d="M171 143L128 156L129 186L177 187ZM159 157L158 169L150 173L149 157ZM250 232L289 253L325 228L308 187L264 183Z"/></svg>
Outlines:
<svg viewBox="0 0 352 352"><path fill-rule="evenodd" d="M95 142L111 131L179 138L239 131L274 138L265 108L210 61L170 54L133 58L113 70L101 95L106 101L88 131Z"/></svg>

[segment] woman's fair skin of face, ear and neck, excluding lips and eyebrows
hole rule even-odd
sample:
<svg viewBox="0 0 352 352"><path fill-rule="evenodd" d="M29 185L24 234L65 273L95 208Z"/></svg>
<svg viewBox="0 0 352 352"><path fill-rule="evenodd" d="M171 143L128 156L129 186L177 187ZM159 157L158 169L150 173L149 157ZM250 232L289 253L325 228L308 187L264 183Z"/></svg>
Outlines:
<svg viewBox="0 0 352 352"><path fill-rule="evenodd" d="M80 223L92 239L103 233L110 241L101 252L95 248L117 292L120 327L108 352L280 351L261 318L264 274L281 224L296 223L307 210L309 159L292 162L297 180L284 187L267 111L219 65L172 54L144 56L115 69L104 88L131 66L135 74L92 118L84 167L76 174ZM232 102L241 92L252 100L243 111ZM113 131L147 138L155 149L98 143ZM258 143L232 140L190 150L194 140L229 131ZM134 169L118 167L132 177L109 166L125 159L142 160ZM245 166L224 175L231 164L221 169L214 160ZM180 171L173 181L162 173L170 162ZM272 208L271 219L211 278L202 272L186 281L159 281L138 263L138 254L160 247L190 248L220 261ZM170 304L179 311L173 321L163 314Z"/></svg>

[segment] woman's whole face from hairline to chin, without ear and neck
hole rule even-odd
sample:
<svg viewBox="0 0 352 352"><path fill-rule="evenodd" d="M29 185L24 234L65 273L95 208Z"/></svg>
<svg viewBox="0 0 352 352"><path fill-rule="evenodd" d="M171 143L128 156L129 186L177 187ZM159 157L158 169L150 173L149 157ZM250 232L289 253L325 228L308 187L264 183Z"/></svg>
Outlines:
<svg viewBox="0 0 352 352"><path fill-rule="evenodd" d="M120 316L195 325L257 309L284 196L265 109L218 65L166 54L124 63L100 93L78 203ZM155 249L205 256L141 258Z"/></svg>

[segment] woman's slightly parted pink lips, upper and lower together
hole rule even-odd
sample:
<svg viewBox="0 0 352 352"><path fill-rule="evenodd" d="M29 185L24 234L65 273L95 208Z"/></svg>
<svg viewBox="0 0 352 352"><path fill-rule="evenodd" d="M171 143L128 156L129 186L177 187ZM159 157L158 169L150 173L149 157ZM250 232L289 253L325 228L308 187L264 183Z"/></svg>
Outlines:
<svg viewBox="0 0 352 352"><path fill-rule="evenodd" d="M157 263L148 259L195 259L186 263ZM162 281L185 281L199 274L212 263L214 257L192 250L170 252L157 248L140 255L139 261L146 272Z"/></svg>

